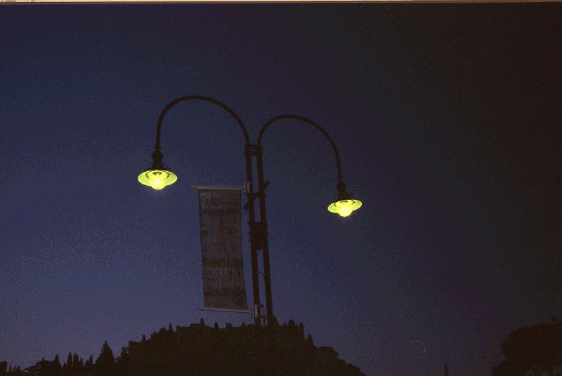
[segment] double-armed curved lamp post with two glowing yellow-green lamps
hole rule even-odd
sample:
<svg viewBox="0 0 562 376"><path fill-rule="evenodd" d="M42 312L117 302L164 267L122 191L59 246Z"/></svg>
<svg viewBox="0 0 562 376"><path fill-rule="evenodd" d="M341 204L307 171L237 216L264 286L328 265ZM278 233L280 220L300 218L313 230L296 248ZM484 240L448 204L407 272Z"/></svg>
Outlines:
<svg viewBox="0 0 562 376"><path fill-rule="evenodd" d="M257 307L257 315L255 318L256 325L261 325L261 314L259 312L260 306L260 293L259 293L259 271L258 271L258 253L261 250L263 255L263 284L266 290L266 318L267 323L270 325L273 323L273 302L271 297L271 279L270 279L270 268L269 268L269 247L268 247L268 232L267 232L267 216L266 216L266 187L268 187L269 182L263 180L263 148L261 147L261 140L263 138L263 133L266 129L276 121L283 119L295 119L308 123L314 128L320 130L322 135L325 135L329 144L332 146L334 151L334 156L336 157L336 168L337 168L337 190L338 193L335 196L335 201L328 206L328 210L332 213L337 213L342 217L347 217L353 210L357 210L361 206L361 201L352 198L352 194L346 191L346 183L344 183L343 176L341 175L341 166L339 163L339 153L334 144L332 137L320 127L317 123L311 119L307 119L303 116L298 115L279 115L266 121L259 132L258 143L252 145L249 139L248 131L240 116L238 116L230 107L216 99L204 97L202 95L187 95L185 97L176 98L169 102L162 112L160 113L158 123L156 126L156 145L155 151L152 153L152 163L148 166L147 170L144 170L141 175L138 175L138 181L142 184L148 185L154 189L162 189L166 185L174 184L178 177L176 174L171 172L170 168L162 163L162 152L160 152L160 134L162 131L162 120L164 115L168 112L171 107L178 104L179 102L184 102L187 100L203 100L206 102L214 103L219 107L225 109L230 115L232 115L240 126L242 133L244 134L244 154L246 156L246 181L247 190L246 195L248 202L244 208L248 210L249 215L249 234L250 234L250 254L251 254L251 277L252 277L252 287L254 295L254 307ZM254 174L252 171L253 160L256 159L257 166L257 190L254 192ZM259 201L259 218L256 218L255 201Z"/></svg>

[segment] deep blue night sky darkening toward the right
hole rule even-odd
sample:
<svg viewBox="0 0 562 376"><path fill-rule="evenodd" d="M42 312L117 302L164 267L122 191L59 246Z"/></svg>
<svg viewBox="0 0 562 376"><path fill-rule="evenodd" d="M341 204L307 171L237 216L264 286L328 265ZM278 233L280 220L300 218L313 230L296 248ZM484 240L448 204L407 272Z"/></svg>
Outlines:
<svg viewBox="0 0 562 376"><path fill-rule="evenodd" d="M178 182L136 180L163 107L208 95L253 142L279 114L319 123L363 202L327 211L318 130L268 129L280 322L368 376L489 374L509 332L562 315L561 19L562 4L0 6L0 361L251 323L196 310L190 186L244 183L234 119L176 105L162 152Z"/></svg>

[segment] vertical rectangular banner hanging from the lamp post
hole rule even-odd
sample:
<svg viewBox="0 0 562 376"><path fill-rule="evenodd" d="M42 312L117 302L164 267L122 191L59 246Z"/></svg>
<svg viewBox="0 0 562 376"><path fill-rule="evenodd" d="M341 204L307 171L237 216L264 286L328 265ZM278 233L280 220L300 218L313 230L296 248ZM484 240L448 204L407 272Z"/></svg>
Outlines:
<svg viewBox="0 0 562 376"><path fill-rule="evenodd" d="M247 310L242 262L243 187L194 187L199 192L204 309Z"/></svg>

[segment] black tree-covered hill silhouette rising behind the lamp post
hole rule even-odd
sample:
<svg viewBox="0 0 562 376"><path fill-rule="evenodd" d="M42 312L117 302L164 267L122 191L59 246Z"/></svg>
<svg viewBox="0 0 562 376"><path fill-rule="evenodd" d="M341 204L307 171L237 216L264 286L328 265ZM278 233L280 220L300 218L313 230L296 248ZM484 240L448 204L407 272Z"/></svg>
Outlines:
<svg viewBox="0 0 562 376"><path fill-rule="evenodd" d="M365 376L358 367L338 358L332 347L315 347L303 324L259 328L255 325L226 328L199 324L162 328L150 338L130 341L119 356L107 342L99 356L87 361L68 354L65 363L58 354L31 367L7 367L0 363L0 376L221 376L221 375L322 375Z"/></svg>

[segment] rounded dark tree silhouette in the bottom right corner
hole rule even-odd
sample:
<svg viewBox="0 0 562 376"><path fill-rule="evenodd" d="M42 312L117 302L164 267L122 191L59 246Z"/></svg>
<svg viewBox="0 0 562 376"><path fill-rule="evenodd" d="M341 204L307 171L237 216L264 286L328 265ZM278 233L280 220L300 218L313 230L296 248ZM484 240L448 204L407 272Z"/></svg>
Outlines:
<svg viewBox="0 0 562 376"><path fill-rule="evenodd" d="M493 376L562 376L562 322L525 326L509 333L502 344L505 361Z"/></svg>

